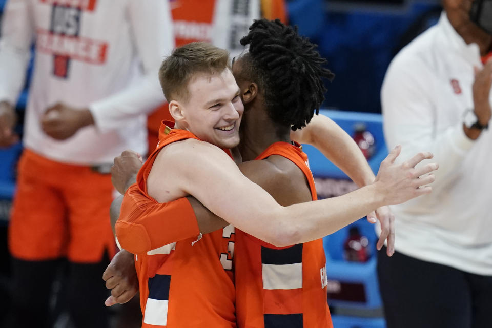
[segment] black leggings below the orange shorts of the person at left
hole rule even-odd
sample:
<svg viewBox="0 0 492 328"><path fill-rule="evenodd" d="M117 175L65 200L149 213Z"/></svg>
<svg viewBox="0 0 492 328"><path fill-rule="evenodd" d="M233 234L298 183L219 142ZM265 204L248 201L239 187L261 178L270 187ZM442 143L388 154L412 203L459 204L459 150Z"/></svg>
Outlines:
<svg viewBox="0 0 492 328"><path fill-rule="evenodd" d="M12 304L8 327L51 328L53 309L68 311L76 328L107 328L108 313L104 301L109 296L103 272L107 256L95 264L68 263L64 260L12 260ZM57 297L53 283L62 279ZM54 304L57 303L57 304Z"/></svg>

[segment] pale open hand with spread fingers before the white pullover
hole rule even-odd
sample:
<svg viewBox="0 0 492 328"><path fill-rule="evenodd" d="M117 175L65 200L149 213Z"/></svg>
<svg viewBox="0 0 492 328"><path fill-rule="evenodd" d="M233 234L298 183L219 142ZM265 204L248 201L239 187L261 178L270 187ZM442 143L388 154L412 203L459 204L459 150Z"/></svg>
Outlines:
<svg viewBox="0 0 492 328"><path fill-rule="evenodd" d="M395 163L400 155L401 145L396 146L381 162L378 175L374 182L377 189L376 195L380 195L382 204L401 204L412 198L429 194L432 187L427 186L434 182L433 171L438 169L436 163L429 163L415 168L424 159L433 158L429 152L421 152L401 164Z"/></svg>

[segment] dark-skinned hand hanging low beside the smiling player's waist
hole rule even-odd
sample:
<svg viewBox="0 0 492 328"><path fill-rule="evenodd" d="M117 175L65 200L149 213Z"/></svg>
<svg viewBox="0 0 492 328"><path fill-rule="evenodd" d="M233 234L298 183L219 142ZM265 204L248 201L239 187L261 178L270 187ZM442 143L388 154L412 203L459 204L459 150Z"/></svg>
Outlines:
<svg viewBox="0 0 492 328"><path fill-rule="evenodd" d="M111 296L105 302L106 306L131 300L138 292L133 254L125 250L116 253L106 268L103 279L106 281L106 288L111 290Z"/></svg>

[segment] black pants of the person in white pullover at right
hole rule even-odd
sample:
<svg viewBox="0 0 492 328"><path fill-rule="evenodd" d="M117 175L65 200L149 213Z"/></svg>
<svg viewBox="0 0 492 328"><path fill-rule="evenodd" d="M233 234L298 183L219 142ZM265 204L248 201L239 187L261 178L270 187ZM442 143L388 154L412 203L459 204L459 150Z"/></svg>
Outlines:
<svg viewBox="0 0 492 328"><path fill-rule="evenodd" d="M492 276L378 252L387 328L492 327Z"/></svg>

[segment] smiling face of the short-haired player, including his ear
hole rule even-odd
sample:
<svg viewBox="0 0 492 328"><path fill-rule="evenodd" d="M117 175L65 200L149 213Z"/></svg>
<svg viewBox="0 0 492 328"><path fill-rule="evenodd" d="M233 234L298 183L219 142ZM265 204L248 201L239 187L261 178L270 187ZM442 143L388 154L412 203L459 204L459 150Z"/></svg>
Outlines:
<svg viewBox="0 0 492 328"><path fill-rule="evenodd" d="M231 70L192 77L188 94L188 99L170 103L171 113L179 111L175 117L178 126L220 148L236 147L244 107Z"/></svg>

